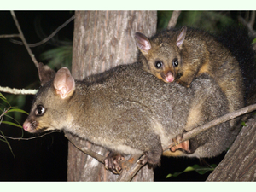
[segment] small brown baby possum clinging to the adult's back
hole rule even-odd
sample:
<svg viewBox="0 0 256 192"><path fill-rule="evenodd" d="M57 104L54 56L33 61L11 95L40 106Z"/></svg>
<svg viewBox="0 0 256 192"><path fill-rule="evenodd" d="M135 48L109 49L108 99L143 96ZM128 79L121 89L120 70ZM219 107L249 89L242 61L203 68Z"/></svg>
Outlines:
<svg viewBox="0 0 256 192"><path fill-rule="evenodd" d="M137 32L135 40L140 50L138 61L145 71L166 83L176 81L186 87L201 73L208 73L227 97L229 112L244 107L243 78L236 56L211 34L183 26L152 38ZM230 122L235 125L234 120Z"/></svg>

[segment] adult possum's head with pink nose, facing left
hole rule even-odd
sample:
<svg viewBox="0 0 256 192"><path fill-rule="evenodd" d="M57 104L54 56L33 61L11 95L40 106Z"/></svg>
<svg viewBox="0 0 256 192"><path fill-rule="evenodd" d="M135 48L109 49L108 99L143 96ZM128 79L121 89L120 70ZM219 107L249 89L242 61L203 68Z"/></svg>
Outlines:
<svg viewBox="0 0 256 192"><path fill-rule="evenodd" d="M39 64L38 73L42 87L35 96L23 128L32 133L62 130L67 125L66 111L75 90L74 79L66 67L55 73L48 66Z"/></svg>

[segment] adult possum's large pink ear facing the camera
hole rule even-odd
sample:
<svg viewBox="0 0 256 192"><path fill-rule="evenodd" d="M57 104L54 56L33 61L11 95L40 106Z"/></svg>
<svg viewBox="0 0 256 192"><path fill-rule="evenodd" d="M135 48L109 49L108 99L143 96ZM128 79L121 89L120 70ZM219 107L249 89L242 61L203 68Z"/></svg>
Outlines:
<svg viewBox="0 0 256 192"><path fill-rule="evenodd" d="M73 94L75 89L75 82L71 73L67 67L62 67L55 75L54 87L56 93L61 96L62 99Z"/></svg>

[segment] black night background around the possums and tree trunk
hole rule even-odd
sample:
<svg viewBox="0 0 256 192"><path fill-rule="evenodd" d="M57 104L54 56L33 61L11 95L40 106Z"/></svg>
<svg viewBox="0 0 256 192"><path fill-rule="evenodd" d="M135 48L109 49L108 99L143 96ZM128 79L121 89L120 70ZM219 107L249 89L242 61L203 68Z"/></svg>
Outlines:
<svg viewBox="0 0 256 192"><path fill-rule="evenodd" d="M46 38L74 14L73 11L15 11L17 20L28 43L37 43ZM166 27L172 12L158 13L158 29ZM192 20L192 16L194 21ZM220 15L220 16L219 16ZM246 17L246 12L183 12L177 25L204 26L209 31L220 28L227 22L234 21L237 15ZM0 35L15 34L18 30L9 11L0 11ZM188 19L189 18L189 19ZM202 20L202 18L204 20ZM211 25L209 25L209 20ZM228 21L227 21L228 20ZM10 39L0 38L0 86L38 89L38 71L24 46L14 44ZM40 56L49 49L63 45L72 46L73 21L51 39L48 43L31 48L38 61L45 61ZM71 64L71 61L70 61ZM55 67L54 67L55 68ZM12 106L18 106L29 112L33 96L12 96L3 93ZM0 102L3 103L3 102ZM3 110L3 105L0 106ZM25 114L14 114L20 125L26 119ZM20 128L0 125L5 136L21 137ZM24 131L24 138L34 137ZM67 139L63 133L55 132L31 140L8 139L14 155L7 143L0 141L0 181L67 181ZM163 157L161 166L156 168L155 181L204 181L208 174L186 172L178 177L166 179L167 174L182 172L187 166L195 164L207 166L218 164L224 154L213 159L188 159Z"/></svg>

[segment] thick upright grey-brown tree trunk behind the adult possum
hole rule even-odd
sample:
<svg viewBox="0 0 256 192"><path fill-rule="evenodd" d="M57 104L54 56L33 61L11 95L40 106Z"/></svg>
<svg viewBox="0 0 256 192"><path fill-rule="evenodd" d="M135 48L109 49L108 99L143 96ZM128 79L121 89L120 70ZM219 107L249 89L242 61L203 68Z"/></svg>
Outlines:
<svg viewBox="0 0 256 192"><path fill-rule="evenodd" d="M137 61L135 32L151 36L156 32L156 11L77 11L73 37L75 79L84 79L119 64ZM81 114L83 115L83 114ZM98 154L105 148L80 140ZM68 145L68 181L116 181L118 175L105 170L102 163ZM154 172L144 166L133 181L153 181Z"/></svg>

